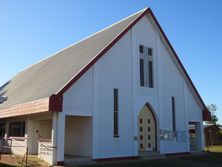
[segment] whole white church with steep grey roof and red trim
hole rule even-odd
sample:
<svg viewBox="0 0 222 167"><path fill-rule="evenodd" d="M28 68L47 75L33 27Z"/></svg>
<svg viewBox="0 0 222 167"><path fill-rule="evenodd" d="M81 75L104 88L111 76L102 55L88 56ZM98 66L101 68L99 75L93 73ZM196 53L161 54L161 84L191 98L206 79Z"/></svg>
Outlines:
<svg viewBox="0 0 222 167"><path fill-rule="evenodd" d="M202 151L210 117L150 8L19 72L0 95L1 150L51 164Z"/></svg>

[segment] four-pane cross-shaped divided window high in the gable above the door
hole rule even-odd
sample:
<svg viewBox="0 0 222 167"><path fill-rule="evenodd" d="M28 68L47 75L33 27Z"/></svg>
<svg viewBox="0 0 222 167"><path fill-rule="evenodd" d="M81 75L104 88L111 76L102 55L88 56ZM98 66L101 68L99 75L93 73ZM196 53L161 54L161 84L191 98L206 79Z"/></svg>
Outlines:
<svg viewBox="0 0 222 167"><path fill-rule="evenodd" d="M153 49L139 46L140 86L153 88Z"/></svg>

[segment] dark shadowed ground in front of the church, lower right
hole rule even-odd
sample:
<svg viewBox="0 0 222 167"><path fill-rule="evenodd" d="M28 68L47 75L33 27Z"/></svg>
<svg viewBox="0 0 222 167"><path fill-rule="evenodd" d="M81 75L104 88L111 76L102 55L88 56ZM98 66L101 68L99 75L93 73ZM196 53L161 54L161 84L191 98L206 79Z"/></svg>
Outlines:
<svg viewBox="0 0 222 167"><path fill-rule="evenodd" d="M221 167L221 164L222 153L207 153L159 160L103 162L94 165L79 165L79 167Z"/></svg>

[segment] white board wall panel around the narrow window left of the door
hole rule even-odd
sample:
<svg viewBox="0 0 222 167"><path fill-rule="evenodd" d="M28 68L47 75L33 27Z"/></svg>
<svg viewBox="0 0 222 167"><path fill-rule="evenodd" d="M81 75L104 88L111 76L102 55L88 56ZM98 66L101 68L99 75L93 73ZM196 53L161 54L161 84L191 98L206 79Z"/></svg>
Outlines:
<svg viewBox="0 0 222 167"><path fill-rule="evenodd" d="M94 65L93 159L132 156L131 31ZM119 90L119 137L113 137L113 89Z"/></svg>

